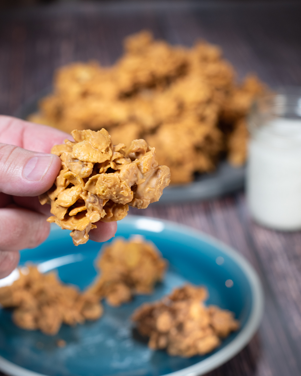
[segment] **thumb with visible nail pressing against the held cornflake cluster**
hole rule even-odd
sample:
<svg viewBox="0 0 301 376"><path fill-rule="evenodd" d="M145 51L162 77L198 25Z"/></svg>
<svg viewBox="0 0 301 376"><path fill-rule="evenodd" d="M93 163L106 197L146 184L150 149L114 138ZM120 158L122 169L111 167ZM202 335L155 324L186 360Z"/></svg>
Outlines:
<svg viewBox="0 0 301 376"><path fill-rule="evenodd" d="M0 192L37 196L51 188L60 168L57 155L0 144Z"/></svg>

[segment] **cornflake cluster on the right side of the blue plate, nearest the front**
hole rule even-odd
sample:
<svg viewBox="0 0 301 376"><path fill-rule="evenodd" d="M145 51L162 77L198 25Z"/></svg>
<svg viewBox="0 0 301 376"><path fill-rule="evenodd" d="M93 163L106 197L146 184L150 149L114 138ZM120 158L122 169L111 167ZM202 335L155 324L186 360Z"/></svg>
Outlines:
<svg viewBox="0 0 301 376"><path fill-rule="evenodd" d="M204 355L221 339L239 329L233 312L205 306L207 291L185 285L154 303L145 303L132 315L141 335L149 337L151 349L166 349L170 355Z"/></svg>

